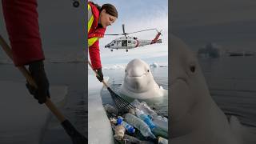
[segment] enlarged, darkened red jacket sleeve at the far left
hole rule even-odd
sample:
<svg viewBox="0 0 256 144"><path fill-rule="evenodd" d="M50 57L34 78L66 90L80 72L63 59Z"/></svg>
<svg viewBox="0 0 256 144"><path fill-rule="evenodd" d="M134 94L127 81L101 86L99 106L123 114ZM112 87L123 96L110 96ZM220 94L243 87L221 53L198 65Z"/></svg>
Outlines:
<svg viewBox="0 0 256 144"><path fill-rule="evenodd" d="M36 0L2 0L2 10L16 66L43 60Z"/></svg>

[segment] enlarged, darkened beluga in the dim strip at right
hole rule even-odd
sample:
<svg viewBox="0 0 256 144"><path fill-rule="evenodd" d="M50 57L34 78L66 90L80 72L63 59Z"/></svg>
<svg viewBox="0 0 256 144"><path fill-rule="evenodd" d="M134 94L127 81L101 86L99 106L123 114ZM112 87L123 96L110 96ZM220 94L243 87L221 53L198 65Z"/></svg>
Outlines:
<svg viewBox="0 0 256 144"><path fill-rule="evenodd" d="M192 50L170 35L170 143L255 144L238 118L227 116L210 96ZM250 138L248 136L251 136Z"/></svg>

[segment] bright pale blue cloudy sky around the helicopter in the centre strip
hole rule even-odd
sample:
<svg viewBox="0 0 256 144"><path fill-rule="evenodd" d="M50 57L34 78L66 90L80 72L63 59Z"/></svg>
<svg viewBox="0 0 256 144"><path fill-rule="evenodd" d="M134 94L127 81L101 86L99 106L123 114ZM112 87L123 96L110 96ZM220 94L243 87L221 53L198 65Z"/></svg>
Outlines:
<svg viewBox="0 0 256 144"><path fill-rule="evenodd" d="M134 58L140 58L151 64L157 62L167 65L168 62L168 1L167 0L94 0L102 6L104 3L113 4L118 10L118 19L112 26L106 28L106 34L122 34L122 24L126 33L157 28L162 30L161 44L142 46L136 49L114 50L106 49L105 45L120 36L105 36L100 39L102 65L127 64ZM152 40L156 36L155 30L130 36L138 39Z"/></svg>

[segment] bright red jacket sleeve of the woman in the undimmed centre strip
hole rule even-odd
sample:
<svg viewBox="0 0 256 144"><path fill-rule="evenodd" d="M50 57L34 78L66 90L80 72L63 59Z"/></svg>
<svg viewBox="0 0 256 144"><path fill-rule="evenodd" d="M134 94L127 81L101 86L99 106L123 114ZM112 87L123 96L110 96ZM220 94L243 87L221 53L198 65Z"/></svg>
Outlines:
<svg viewBox="0 0 256 144"><path fill-rule="evenodd" d="M93 66L94 70L102 68L101 57L100 57L98 45L99 45L98 41L96 41L96 42L94 42L94 44L92 46L89 47L90 62L91 62L91 65Z"/></svg>

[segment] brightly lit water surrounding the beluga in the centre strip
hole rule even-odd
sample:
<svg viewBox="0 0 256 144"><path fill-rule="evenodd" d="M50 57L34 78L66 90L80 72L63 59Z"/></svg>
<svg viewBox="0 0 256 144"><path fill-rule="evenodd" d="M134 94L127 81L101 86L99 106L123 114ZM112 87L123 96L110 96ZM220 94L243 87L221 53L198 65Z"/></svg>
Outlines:
<svg viewBox="0 0 256 144"><path fill-rule="evenodd" d="M162 86L164 89L168 90L168 67L158 67L151 68L151 73L154 76L155 82L158 83L159 86ZM116 70L103 70L103 74L109 77L109 85L112 90L118 95L121 96L119 90L122 85L122 81L125 74L125 69L116 69ZM162 102L158 103L147 103L149 106L154 106L155 110L158 114L168 117L168 101L167 97L164 98ZM128 100L128 99L126 99ZM108 90L102 90L102 102L103 104L111 104L114 105L110 93Z"/></svg>

